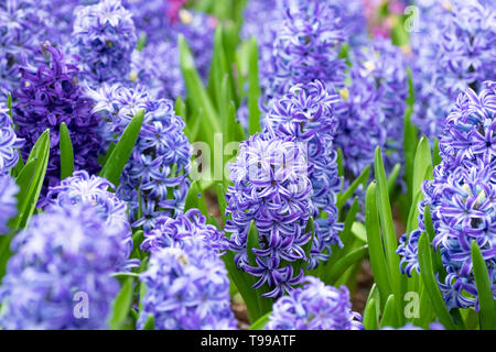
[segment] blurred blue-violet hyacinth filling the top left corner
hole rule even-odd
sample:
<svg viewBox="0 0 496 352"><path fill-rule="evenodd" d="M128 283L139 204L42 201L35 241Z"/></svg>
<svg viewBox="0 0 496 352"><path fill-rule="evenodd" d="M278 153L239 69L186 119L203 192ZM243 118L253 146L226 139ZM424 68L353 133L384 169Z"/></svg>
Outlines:
<svg viewBox="0 0 496 352"><path fill-rule="evenodd" d="M33 0L0 2L0 101L21 82L19 66L36 51L46 35L47 13Z"/></svg>

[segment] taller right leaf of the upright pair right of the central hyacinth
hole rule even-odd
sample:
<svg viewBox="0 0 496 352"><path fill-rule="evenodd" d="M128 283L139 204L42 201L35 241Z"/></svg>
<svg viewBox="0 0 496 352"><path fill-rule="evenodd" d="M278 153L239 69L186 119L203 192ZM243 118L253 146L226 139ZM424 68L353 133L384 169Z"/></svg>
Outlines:
<svg viewBox="0 0 496 352"><path fill-rule="evenodd" d="M382 229L384 249L386 254L386 263L388 264L389 280L396 297L402 297L403 278L399 268L399 257L396 254L398 242L396 239L395 224L392 221L391 205L389 201L389 191L387 188L386 172L384 168L382 155L380 147L376 148L375 154L375 175L377 178L377 208L379 210L379 220ZM406 284L406 282L405 282ZM406 286L406 285L405 285ZM402 309L400 299L396 299L398 310ZM400 316L400 323L402 323L402 316Z"/></svg>

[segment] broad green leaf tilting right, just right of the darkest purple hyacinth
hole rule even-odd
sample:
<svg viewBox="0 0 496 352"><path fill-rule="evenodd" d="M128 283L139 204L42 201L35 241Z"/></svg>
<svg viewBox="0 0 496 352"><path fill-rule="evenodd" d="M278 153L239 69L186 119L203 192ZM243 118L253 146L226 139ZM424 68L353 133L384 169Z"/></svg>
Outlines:
<svg viewBox="0 0 496 352"><path fill-rule="evenodd" d="M141 125L143 124L144 110L141 109L129 122L128 127L122 133L119 142L114 148L99 173L100 177L107 178L116 188L119 185L119 178L125 169L126 164L131 156L134 144L140 135Z"/></svg>

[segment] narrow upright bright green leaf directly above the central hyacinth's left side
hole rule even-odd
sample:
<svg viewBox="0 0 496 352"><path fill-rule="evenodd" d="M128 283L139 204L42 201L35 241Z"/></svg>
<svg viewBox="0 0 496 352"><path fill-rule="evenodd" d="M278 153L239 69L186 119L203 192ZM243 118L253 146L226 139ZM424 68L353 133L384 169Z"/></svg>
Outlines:
<svg viewBox="0 0 496 352"><path fill-rule="evenodd" d="M260 132L260 109L258 107L261 89L258 76L258 45L252 37L249 41L249 69L248 69L248 131L251 134Z"/></svg>

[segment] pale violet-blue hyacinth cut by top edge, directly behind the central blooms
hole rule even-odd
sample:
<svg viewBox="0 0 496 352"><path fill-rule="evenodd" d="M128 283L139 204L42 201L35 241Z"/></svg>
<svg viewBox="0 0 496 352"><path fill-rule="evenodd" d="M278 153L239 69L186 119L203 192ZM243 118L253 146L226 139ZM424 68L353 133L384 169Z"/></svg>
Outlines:
<svg viewBox="0 0 496 352"><path fill-rule="evenodd" d="M287 4L285 16L277 36L267 50L269 61L260 63L263 103L285 94L296 84L315 79L330 88L344 85L346 64L339 58L345 42L344 22L331 1L293 1ZM263 52L263 48L261 48ZM265 57L263 53L260 55Z"/></svg>

